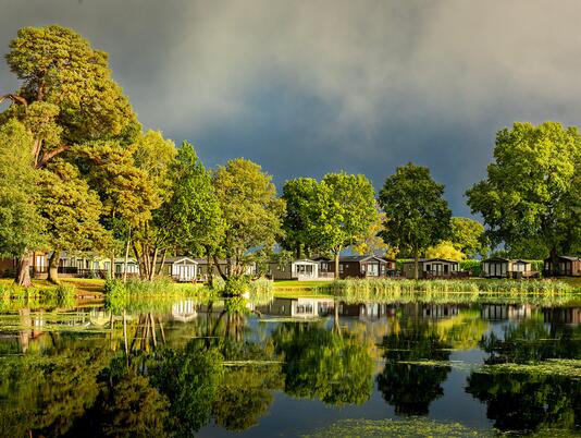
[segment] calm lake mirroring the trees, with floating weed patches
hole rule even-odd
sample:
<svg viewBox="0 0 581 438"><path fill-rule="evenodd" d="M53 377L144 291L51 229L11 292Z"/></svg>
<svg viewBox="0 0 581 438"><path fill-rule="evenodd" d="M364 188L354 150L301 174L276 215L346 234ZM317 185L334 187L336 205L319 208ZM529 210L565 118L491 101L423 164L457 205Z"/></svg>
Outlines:
<svg viewBox="0 0 581 438"><path fill-rule="evenodd" d="M7 437L581 436L566 303L2 308Z"/></svg>

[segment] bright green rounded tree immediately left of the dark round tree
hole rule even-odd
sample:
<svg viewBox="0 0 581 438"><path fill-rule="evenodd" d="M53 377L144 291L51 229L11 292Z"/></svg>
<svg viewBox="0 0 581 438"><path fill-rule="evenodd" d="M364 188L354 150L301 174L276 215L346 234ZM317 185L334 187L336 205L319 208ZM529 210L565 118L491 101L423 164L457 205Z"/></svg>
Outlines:
<svg viewBox="0 0 581 438"><path fill-rule="evenodd" d="M364 175L329 173L311 205L309 233L319 251L330 252L338 278L341 252L360 242L378 218L375 193Z"/></svg>

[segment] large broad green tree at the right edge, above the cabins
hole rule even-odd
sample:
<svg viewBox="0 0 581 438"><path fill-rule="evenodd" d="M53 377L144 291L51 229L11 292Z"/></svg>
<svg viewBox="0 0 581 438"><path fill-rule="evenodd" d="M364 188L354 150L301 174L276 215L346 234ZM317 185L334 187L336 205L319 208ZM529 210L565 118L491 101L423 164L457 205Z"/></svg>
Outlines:
<svg viewBox="0 0 581 438"><path fill-rule="evenodd" d="M580 156L577 129L556 122L515 123L496 134L486 180L466 193L494 245L510 251L542 244L554 260L579 245L581 224L572 207Z"/></svg>

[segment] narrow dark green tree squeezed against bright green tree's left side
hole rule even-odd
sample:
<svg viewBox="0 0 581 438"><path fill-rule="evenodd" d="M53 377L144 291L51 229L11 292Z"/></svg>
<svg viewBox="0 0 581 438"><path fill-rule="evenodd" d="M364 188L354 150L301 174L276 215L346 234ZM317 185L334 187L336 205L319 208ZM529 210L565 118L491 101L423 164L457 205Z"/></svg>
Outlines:
<svg viewBox="0 0 581 438"><path fill-rule="evenodd" d="M286 203L283 218L284 239L281 245L292 251L297 258L309 255L313 240L309 234L309 215L316 200L318 190L313 178L297 178L287 181L283 186L282 198Z"/></svg>

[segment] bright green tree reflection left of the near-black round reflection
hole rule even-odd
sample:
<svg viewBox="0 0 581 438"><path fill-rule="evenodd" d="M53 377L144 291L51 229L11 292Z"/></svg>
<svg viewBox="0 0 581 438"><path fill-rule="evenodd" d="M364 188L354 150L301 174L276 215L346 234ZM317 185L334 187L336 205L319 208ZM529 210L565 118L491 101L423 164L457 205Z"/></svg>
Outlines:
<svg viewBox="0 0 581 438"><path fill-rule="evenodd" d="M285 392L319 398L329 404L361 404L371 396L369 345L348 331L341 334L321 325L287 324L272 338L276 350L285 355Z"/></svg>

